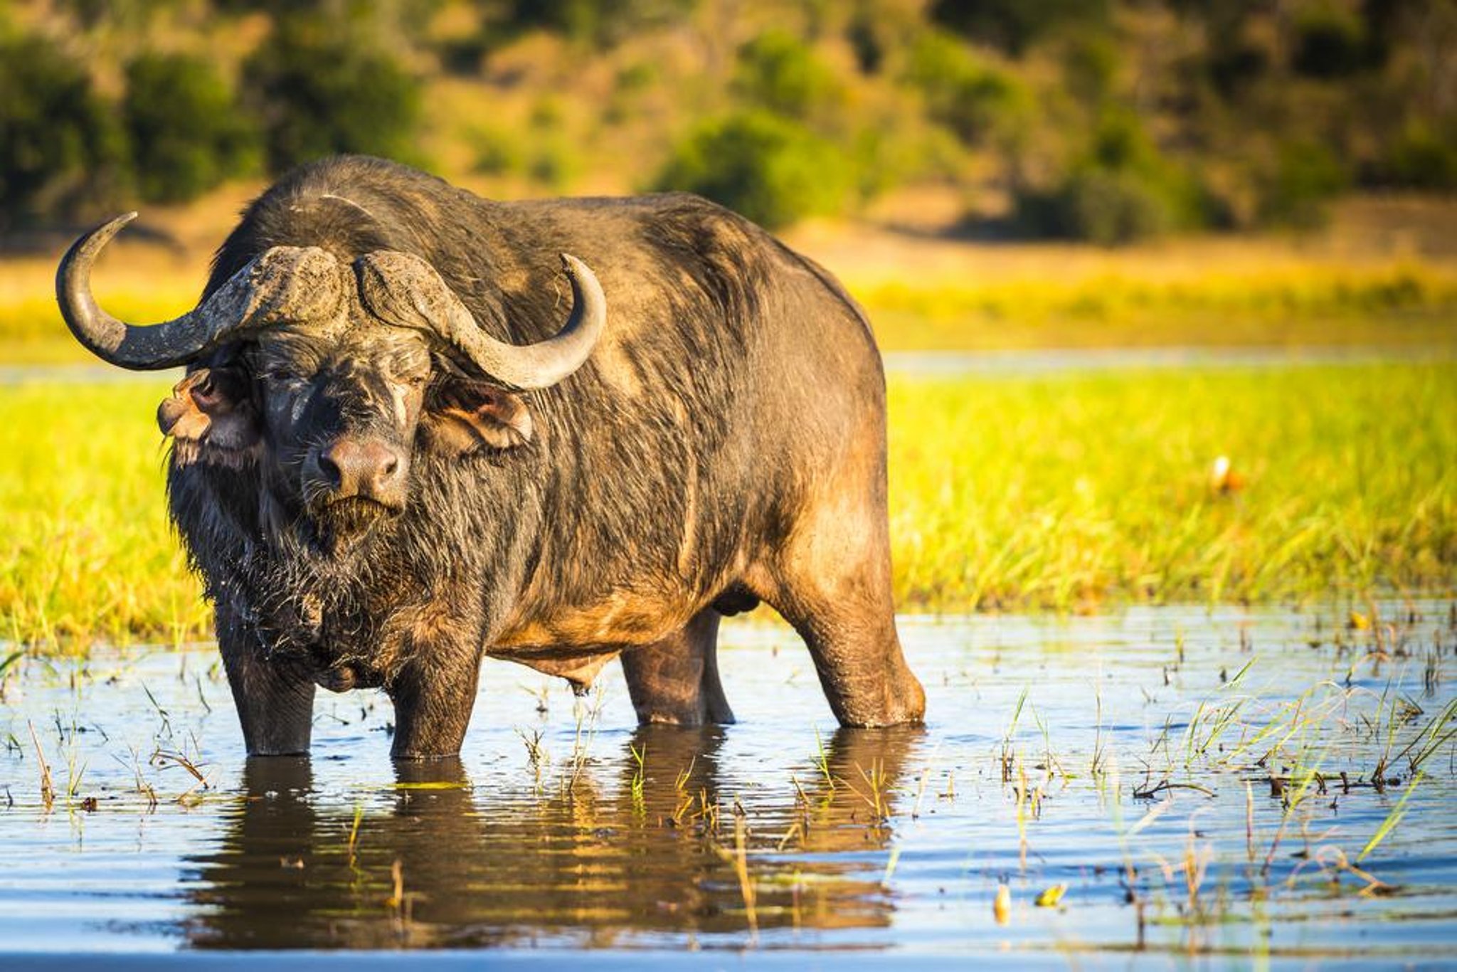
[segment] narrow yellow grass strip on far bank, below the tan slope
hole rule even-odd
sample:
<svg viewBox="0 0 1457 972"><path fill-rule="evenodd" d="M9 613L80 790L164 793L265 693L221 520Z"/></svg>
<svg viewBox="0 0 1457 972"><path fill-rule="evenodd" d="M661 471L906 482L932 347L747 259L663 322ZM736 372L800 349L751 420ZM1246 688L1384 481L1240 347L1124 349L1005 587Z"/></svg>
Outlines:
<svg viewBox="0 0 1457 972"><path fill-rule="evenodd" d="M25 271L20 271L22 275ZM23 293L0 286L0 361L92 363L61 324L50 265ZM197 300L201 274L106 281L98 294L127 321L160 321ZM194 278L195 277L195 278ZM160 284L154 283L162 280ZM1109 273L1058 278L880 283L847 275L880 347L1013 350L1081 347L1445 347L1457 348L1457 271L1393 262L1300 267L1250 275L1144 280ZM6 291L10 291L9 294Z"/></svg>

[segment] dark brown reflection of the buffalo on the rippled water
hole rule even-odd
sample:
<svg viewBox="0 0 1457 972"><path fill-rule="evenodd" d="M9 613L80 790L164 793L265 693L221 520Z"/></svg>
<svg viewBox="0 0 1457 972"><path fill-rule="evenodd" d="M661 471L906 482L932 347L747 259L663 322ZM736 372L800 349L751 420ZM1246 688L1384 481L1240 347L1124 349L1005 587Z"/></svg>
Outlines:
<svg viewBox="0 0 1457 972"><path fill-rule="evenodd" d="M356 815L318 799L307 759L255 759L219 850L192 860L185 934L207 949L742 937L739 813L765 936L886 927L876 851L919 737L842 729L804 778L745 780L724 778L723 729L647 726L608 772L514 800L459 761L396 764L392 807L360 815L353 847ZM781 844L801 853L756 854Z"/></svg>

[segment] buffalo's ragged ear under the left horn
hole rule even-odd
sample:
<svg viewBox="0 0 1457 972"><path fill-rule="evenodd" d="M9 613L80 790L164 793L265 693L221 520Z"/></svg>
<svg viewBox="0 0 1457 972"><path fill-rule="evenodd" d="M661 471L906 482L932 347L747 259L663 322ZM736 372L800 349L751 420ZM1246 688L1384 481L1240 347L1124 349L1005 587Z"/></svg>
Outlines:
<svg viewBox="0 0 1457 972"><path fill-rule="evenodd" d="M157 427L184 465L204 455L242 459L261 440L248 376L236 367L200 367L157 405Z"/></svg>

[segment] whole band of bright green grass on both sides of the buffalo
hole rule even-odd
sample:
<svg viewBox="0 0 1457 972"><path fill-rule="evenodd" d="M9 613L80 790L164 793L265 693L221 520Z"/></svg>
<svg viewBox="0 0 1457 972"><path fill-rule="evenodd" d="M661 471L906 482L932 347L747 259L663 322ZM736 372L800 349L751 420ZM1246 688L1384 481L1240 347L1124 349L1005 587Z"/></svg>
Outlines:
<svg viewBox="0 0 1457 972"><path fill-rule="evenodd" d="M170 536L165 382L0 392L0 638L207 634ZM1450 593L1457 364L890 386L902 609ZM1217 456L1246 482L1209 485Z"/></svg>

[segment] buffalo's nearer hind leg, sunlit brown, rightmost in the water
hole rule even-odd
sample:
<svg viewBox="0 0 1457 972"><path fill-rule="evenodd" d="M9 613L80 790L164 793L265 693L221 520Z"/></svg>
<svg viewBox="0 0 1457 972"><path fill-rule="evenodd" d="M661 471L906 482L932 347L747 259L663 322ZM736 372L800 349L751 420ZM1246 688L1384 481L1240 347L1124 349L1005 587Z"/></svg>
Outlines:
<svg viewBox="0 0 1457 972"><path fill-rule="evenodd" d="M884 507L833 510L801 525L781 552L769 603L794 625L842 726L896 726L925 716L890 595Z"/></svg>

